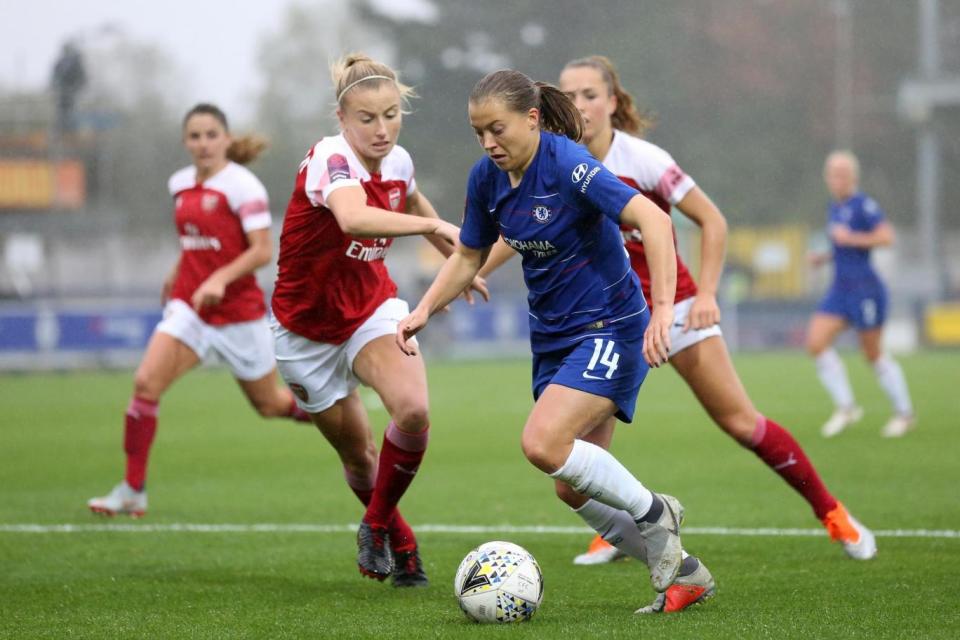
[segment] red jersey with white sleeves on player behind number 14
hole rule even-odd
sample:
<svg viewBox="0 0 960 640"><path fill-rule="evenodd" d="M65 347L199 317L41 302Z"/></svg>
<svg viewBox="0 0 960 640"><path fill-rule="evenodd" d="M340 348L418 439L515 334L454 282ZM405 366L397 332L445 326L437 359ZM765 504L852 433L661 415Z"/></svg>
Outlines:
<svg viewBox="0 0 960 640"><path fill-rule="evenodd" d="M693 189L693 178L683 172L669 153L660 147L641 140L622 131L613 132L613 144L603 164L618 178L640 191L670 215L670 208L677 204ZM650 269L643 250L640 231L633 227L622 227L624 246L630 254L633 270L640 276L643 295L650 301ZM674 233L676 244L676 233ZM675 302L692 298L697 294L697 284L693 281L687 265L677 254L677 295Z"/></svg>

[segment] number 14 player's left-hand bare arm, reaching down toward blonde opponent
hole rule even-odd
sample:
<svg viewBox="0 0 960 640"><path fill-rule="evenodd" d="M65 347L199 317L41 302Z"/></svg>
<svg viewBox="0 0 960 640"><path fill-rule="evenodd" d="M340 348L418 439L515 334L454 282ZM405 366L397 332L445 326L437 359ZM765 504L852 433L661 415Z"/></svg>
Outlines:
<svg viewBox="0 0 960 640"><path fill-rule="evenodd" d="M427 326L427 321L434 313L443 309L470 283L483 264L487 249L472 249L457 244L453 252L440 269L433 284L423 294L420 303L406 318L397 325L397 346L408 356L417 353L415 345L408 341L421 329Z"/></svg>

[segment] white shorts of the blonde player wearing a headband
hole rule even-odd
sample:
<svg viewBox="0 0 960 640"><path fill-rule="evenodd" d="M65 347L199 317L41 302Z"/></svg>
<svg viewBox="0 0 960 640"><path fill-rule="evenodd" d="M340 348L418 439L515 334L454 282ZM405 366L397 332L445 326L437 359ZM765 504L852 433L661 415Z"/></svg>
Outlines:
<svg viewBox="0 0 960 640"><path fill-rule="evenodd" d="M277 370L293 391L300 408L319 413L350 395L360 384L353 373L357 354L376 338L395 335L400 321L409 313L410 307L405 301L390 298L342 344L314 342L273 318L270 328L277 352Z"/></svg>

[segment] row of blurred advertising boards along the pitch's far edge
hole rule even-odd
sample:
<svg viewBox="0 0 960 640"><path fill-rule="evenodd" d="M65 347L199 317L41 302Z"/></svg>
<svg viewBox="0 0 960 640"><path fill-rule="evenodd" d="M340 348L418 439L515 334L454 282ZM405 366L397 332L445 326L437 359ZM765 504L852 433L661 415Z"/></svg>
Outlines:
<svg viewBox="0 0 960 640"><path fill-rule="evenodd" d="M723 331L734 350L800 349L813 299L749 300L724 305ZM960 305L917 305L889 321L894 351L960 346ZM156 301L38 302L0 305L0 370L129 368L160 320ZM421 336L434 358L528 357L527 304L517 294L439 314ZM841 346L853 346L848 333Z"/></svg>

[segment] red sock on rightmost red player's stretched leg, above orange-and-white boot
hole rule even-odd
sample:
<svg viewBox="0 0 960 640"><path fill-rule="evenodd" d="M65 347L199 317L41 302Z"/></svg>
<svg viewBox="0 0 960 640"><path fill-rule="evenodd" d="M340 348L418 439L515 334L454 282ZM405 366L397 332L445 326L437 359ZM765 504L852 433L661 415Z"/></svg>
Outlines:
<svg viewBox="0 0 960 640"><path fill-rule="evenodd" d="M800 443L776 422L764 416L757 419L751 448L768 467L804 497L818 520L823 520L837 506L836 499L823 484Z"/></svg>

